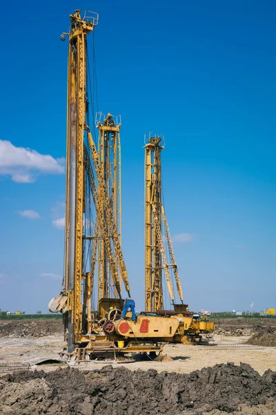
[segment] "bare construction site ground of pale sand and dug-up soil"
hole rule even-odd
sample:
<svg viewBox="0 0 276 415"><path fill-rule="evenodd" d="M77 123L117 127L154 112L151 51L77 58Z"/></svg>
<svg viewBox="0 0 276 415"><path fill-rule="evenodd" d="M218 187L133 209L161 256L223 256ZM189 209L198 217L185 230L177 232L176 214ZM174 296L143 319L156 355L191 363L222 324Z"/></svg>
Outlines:
<svg viewBox="0 0 276 415"><path fill-rule="evenodd" d="M276 414L275 339L275 319L221 319L217 326L217 333L210 340L211 346L166 344L164 354L170 356L171 359L165 359L162 362L137 359L132 363L115 363L112 366L89 362L77 366L80 371L76 371L76 367L68 371L65 363L53 362L59 359L59 352L66 347L63 342L61 321L1 321L0 369L6 363L29 363L30 369L15 374L15 377L1 374L0 413L6 415L163 414L168 412L168 403L171 400L170 414L175 415ZM52 362L47 365L37 365L41 360L46 359ZM248 365L240 367L240 362L250 367ZM143 371L146 371L146 374L143 375ZM118 380L121 379L119 374L124 381ZM57 385L51 376L57 378ZM75 389L72 387L71 390L71 395L75 396L72 402L66 399L67 392L62 386L64 379L68 377L72 378L72 385L75 385ZM112 382L106 384L110 377ZM131 399L127 396L130 393L128 384L129 382L135 383L135 379L138 378L139 382L144 383L143 387L148 388L149 394L161 395L153 407L147 404L147 400L144 402L143 398L140 406L135 404L136 409L133 409L133 412L130 409ZM155 378L153 384L165 382L165 380L168 382L170 378L170 386L167 385L165 391L163 389L153 391L155 386L150 385L150 379L153 381L153 378ZM89 388L92 387L95 379L100 380L99 384L102 389L97 393L94 391L91 395ZM58 386L59 382L60 386ZM122 385L120 382L125 383ZM177 389L181 382L186 385L186 398L181 395L184 392ZM231 382L234 382L233 385ZM237 387L239 383L240 388ZM81 398L78 385L82 385ZM218 389L213 390L215 385ZM62 390L58 390L59 387ZM109 389L110 387L113 389ZM140 384L137 387L139 390L142 388ZM194 389L198 389L197 392L200 391L200 393L195 394ZM208 391L208 394L203 393L203 390ZM141 393L143 394L143 391ZM56 394L61 395L61 401L64 399L64 405L57 406ZM119 397L113 396L112 398L112 394L116 396L119 394ZM144 394L147 392L144 391ZM213 394L213 400L210 400L210 394ZM14 396L17 397L15 401ZM104 399L103 396L105 396ZM155 398L152 397L152 399ZM42 402L44 406L39 402ZM227 402L229 405L226 404ZM37 406L38 403L41 409ZM108 412L105 412L106 410Z"/></svg>

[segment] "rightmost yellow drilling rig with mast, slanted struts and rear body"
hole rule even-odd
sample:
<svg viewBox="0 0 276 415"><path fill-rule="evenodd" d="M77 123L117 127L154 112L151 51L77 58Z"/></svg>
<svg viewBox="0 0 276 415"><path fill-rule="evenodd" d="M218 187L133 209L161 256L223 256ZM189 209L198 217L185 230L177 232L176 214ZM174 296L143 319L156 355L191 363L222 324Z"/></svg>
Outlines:
<svg viewBox="0 0 276 415"><path fill-rule="evenodd" d="M145 135L145 308L148 312L160 313L164 308L163 271L168 294L173 306L170 315L188 316L188 304L183 302L183 291L179 278L175 253L168 228L168 221L162 203L161 151L164 149L164 136L154 133ZM163 225L163 226L162 226ZM164 236L162 229L164 228ZM169 261L165 242L168 246ZM174 280L172 279L174 277ZM180 304L175 303L173 283L175 282ZM180 319L179 319L180 320ZM214 322L203 317L192 317L190 325L180 322L175 342L193 341L202 334L208 335L215 329Z"/></svg>

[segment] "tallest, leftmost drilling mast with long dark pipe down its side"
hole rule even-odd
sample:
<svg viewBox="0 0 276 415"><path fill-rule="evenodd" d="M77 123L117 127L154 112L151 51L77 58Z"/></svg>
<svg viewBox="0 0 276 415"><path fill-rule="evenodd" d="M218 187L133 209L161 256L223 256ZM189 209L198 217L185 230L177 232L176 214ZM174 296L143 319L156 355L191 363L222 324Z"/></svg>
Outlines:
<svg viewBox="0 0 276 415"><path fill-rule="evenodd" d="M86 42L98 23L98 15L70 15L68 55L68 120L66 165L66 268L68 292L68 352L75 349L81 332L81 270L83 232L83 138L86 125Z"/></svg>

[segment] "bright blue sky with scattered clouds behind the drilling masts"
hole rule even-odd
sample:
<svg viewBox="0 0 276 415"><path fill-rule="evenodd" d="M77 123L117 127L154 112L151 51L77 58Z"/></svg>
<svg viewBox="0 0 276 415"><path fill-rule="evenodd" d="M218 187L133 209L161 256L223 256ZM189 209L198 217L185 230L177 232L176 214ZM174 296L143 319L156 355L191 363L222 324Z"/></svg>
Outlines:
<svg viewBox="0 0 276 415"><path fill-rule="evenodd" d="M146 131L166 140L164 202L190 309L276 306L275 2L50 0L2 8L0 308L46 311L61 286L60 35L75 8L99 13L99 110L122 117L123 248L137 308Z"/></svg>

